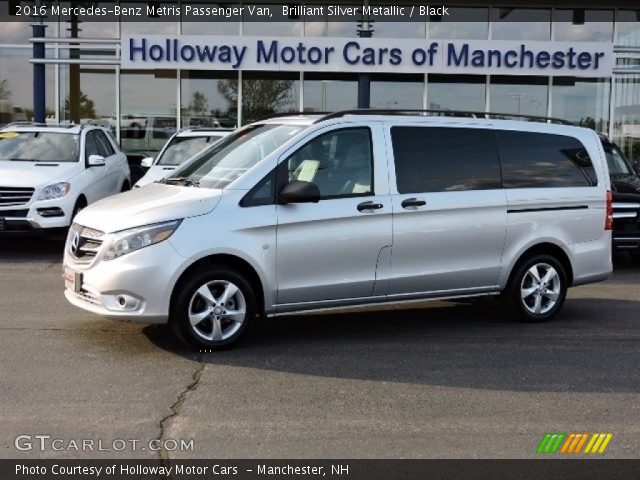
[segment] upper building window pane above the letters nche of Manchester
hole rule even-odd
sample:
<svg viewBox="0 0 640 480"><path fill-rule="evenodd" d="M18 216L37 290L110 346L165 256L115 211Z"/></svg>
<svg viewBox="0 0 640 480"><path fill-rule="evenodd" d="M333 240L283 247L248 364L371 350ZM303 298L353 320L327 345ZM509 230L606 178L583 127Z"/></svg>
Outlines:
<svg viewBox="0 0 640 480"><path fill-rule="evenodd" d="M550 9L494 7L491 22L493 40L551 39Z"/></svg>

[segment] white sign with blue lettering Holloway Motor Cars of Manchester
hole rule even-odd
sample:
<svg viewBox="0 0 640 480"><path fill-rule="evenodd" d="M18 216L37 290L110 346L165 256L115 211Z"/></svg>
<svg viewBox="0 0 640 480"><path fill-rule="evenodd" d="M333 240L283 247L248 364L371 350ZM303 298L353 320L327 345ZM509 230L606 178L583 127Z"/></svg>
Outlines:
<svg viewBox="0 0 640 480"><path fill-rule="evenodd" d="M123 68L607 77L613 44L504 40L131 35Z"/></svg>

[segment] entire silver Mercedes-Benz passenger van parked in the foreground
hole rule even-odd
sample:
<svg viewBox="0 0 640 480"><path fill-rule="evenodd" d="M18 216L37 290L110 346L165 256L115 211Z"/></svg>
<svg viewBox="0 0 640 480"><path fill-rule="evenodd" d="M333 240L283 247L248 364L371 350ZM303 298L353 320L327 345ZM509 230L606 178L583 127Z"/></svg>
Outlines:
<svg viewBox="0 0 640 480"><path fill-rule="evenodd" d="M196 348L261 315L501 294L542 321L612 269L598 135L543 122L342 112L234 132L83 210L66 297Z"/></svg>

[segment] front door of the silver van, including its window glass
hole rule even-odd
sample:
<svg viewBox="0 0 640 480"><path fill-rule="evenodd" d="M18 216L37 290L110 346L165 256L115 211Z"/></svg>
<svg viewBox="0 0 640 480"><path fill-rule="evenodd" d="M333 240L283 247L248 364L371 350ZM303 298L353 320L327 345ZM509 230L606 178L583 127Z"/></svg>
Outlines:
<svg viewBox="0 0 640 480"><path fill-rule="evenodd" d="M278 311L386 294L391 202L381 139L376 126L324 130L280 163L279 189L312 182L321 198L277 207Z"/></svg>

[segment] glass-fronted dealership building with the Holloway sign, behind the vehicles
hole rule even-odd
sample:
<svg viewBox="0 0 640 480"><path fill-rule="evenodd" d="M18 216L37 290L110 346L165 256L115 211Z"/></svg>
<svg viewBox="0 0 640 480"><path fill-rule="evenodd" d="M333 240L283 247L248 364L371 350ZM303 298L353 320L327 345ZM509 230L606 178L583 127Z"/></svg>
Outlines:
<svg viewBox="0 0 640 480"><path fill-rule="evenodd" d="M147 153L190 125L356 108L364 74L372 108L557 117L607 133L640 160L640 9L623 4L462 2L413 21L344 21L328 2L285 13L261 3L275 12L270 21L245 10L212 22L176 9L221 4L82 2L162 5L174 15L105 20L49 10L36 18L46 26L40 43L18 15L21 3L33 2L0 7L0 123L33 118L37 100L47 121L97 120L125 150Z"/></svg>

